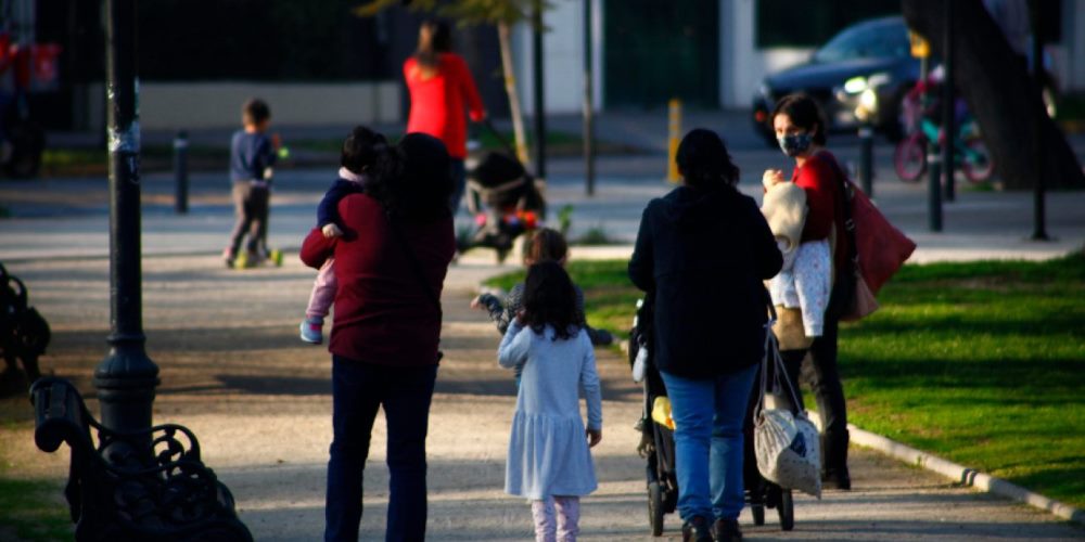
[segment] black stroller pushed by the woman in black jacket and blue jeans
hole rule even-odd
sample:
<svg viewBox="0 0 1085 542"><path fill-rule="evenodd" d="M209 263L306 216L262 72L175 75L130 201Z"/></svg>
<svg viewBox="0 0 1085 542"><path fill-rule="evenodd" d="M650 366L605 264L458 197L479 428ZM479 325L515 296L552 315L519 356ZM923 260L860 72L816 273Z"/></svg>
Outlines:
<svg viewBox="0 0 1085 542"><path fill-rule="evenodd" d="M629 363L634 379L644 388L644 413L639 422L642 433L641 447L638 451L647 460L646 475L648 478L648 519L652 535L663 534L663 516L672 514L678 504L678 479L675 472L674 430L658 422L653 415L656 399L665 398L666 387L663 378L651 363L649 352L652 351L652 311L654 297L648 294L637 301L637 313L633 327L629 330ZM771 332L769 332L771 333ZM787 375L781 375L787 378ZM769 378L768 382L773 382ZM755 386L761 384L760 374L754 378ZM765 508L776 508L780 518L780 529L794 529L794 503L790 489L783 489L766 480L757 472L757 461L753 447L753 408L757 393L752 393L744 424L744 490L746 504L753 515L754 525L765 525ZM783 399L777 399L783 400Z"/></svg>

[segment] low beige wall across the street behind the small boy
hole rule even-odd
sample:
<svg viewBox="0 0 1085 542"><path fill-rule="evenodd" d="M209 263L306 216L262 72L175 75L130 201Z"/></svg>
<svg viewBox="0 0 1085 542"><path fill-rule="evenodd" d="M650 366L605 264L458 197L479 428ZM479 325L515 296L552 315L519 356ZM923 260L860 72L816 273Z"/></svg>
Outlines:
<svg viewBox="0 0 1085 542"><path fill-rule="evenodd" d="M398 122L399 90L382 82L141 82L139 118L143 130L232 128L241 104L260 98L280 126Z"/></svg>

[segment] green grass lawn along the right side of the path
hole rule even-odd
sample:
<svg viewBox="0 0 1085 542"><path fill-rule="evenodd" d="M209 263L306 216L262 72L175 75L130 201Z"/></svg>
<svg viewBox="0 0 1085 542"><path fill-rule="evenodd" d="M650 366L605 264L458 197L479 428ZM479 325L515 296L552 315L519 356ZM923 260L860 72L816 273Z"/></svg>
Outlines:
<svg viewBox="0 0 1085 542"><path fill-rule="evenodd" d="M588 322L622 336L625 269L570 264ZM879 301L841 331L852 423L1085 506L1085 255L905 266Z"/></svg>

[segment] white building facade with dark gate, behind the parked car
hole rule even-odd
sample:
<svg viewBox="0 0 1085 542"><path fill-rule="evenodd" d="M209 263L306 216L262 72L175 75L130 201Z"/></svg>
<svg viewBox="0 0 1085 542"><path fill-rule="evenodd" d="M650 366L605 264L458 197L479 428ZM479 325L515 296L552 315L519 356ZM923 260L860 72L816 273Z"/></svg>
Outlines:
<svg viewBox="0 0 1085 542"><path fill-rule="evenodd" d="M806 61L848 24L899 13L899 0L584 0L591 3L597 108L658 108L671 98L695 107L749 107L762 78ZM1052 0L1047 50L1063 93L1085 91L1085 0ZM584 7L557 0L546 13L548 113L583 107ZM531 31L514 49L525 112L532 113Z"/></svg>

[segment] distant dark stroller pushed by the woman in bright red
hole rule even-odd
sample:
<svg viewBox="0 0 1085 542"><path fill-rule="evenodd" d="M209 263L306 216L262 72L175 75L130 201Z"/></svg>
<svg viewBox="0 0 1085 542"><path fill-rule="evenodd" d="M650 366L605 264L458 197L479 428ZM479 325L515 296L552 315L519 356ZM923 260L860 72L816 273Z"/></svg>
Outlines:
<svg viewBox="0 0 1085 542"><path fill-rule="evenodd" d="M459 240L458 248L461 253L478 246L493 248L500 263L516 237L546 218L546 182L527 172L488 119L484 126L505 150L486 153L468 171L468 210L474 215L475 229Z"/></svg>

